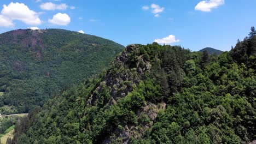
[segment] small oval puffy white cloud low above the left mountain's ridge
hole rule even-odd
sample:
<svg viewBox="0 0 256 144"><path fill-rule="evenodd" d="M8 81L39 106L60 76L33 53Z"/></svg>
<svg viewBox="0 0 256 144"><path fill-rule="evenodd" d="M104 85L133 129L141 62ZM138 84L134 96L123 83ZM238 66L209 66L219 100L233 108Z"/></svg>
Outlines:
<svg viewBox="0 0 256 144"><path fill-rule="evenodd" d="M70 17L67 14L57 13L53 16L53 19L49 19L48 22L55 25L67 26L70 23Z"/></svg>

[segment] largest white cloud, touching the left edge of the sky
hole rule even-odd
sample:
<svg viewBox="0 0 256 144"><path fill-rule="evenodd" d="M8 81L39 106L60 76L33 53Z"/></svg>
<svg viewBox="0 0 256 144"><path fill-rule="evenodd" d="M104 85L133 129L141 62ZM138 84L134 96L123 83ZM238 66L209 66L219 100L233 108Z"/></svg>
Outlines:
<svg viewBox="0 0 256 144"><path fill-rule="evenodd" d="M42 23L38 13L30 10L24 3L4 4L1 14L11 20L20 20L27 25L40 25Z"/></svg>

